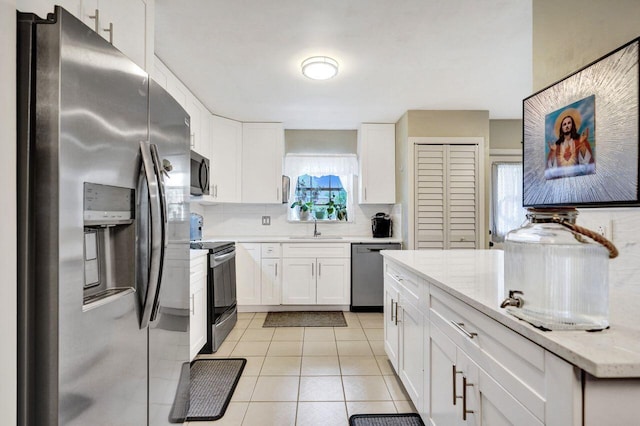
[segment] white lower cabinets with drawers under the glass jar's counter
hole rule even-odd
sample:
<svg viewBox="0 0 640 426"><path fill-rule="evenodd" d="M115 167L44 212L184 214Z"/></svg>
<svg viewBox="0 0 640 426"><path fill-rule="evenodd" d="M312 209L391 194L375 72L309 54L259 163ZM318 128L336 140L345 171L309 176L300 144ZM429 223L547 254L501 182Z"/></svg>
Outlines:
<svg viewBox="0 0 640 426"><path fill-rule="evenodd" d="M579 370L385 259L384 347L425 424L580 425Z"/></svg>

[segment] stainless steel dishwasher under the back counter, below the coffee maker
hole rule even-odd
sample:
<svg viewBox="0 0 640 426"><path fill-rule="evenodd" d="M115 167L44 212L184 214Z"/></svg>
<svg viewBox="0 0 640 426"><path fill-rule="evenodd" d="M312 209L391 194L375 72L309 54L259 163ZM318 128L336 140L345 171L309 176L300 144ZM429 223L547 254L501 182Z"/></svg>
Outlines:
<svg viewBox="0 0 640 426"><path fill-rule="evenodd" d="M351 244L352 312L382 312L384 305L384 275L381 250L400 250L400 244Z"/></svg>

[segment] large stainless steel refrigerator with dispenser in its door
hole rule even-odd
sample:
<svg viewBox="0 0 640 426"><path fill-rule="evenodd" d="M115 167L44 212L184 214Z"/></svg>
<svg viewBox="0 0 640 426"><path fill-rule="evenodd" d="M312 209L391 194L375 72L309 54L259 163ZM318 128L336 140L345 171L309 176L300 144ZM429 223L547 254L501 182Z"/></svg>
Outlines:
<svg viewBox="0 0 640 426"><path fill-rule="evenodd" d="M161 425L189 401L189 117L60 7L18 13L24 425Z"/></svg>

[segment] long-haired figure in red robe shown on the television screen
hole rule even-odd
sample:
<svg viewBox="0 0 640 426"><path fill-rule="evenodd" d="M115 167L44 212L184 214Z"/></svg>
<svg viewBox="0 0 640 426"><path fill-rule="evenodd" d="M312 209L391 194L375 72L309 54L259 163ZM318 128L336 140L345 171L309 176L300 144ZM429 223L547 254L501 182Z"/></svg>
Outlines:
<svg viewBox="0 0 640 426"><path fill-rule="evenodd" d="M548 143L545 178L557 179L595 173L595 158L589 143L589 128L578 133L581 114L569 108L558 114L554 126L557 139Z"/></svg>

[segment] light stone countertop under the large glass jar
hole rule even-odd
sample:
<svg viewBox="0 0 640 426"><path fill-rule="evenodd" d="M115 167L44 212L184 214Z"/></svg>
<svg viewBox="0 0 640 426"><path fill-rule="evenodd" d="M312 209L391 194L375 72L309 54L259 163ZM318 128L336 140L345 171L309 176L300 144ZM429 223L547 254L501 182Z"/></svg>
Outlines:
<svg viewBox="0 0 640 426"><path fill-rule="evenodd" d="M542 331L500 308L501 250L382 251L452 296L599 378L640 378L640 296L610 286L610 328Z"/></svg>

